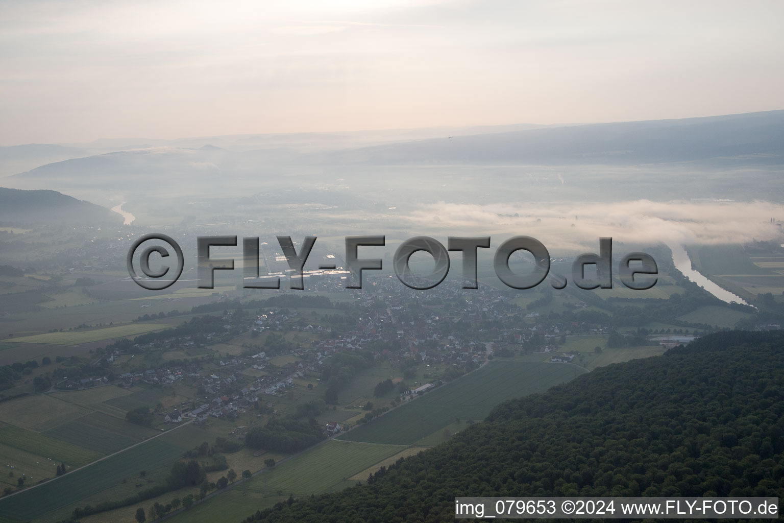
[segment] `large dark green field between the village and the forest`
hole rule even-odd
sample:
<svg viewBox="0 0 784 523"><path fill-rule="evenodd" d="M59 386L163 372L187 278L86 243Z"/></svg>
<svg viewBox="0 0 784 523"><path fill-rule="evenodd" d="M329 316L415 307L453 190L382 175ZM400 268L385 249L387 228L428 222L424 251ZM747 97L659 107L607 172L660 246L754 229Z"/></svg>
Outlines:
<svg viewBox="0 0 784 523"><path fill-rule="evenodd" d="M346 441L416 445L456 419L480 421L501 401L542 392L586 372L576 365L491 361L366 425L339 436Z"/></svg>

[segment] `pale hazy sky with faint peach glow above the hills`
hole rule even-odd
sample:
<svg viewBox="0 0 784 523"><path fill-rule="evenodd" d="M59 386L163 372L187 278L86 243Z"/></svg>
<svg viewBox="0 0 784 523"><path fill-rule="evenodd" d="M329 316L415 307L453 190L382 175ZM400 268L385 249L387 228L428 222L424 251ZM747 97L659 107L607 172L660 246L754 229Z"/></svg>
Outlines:
<svg viewBox="0 0 784 523"><path fill-rule="evenodd" d="M0 144L784 108L784 2L0 2Z"/></svg>

